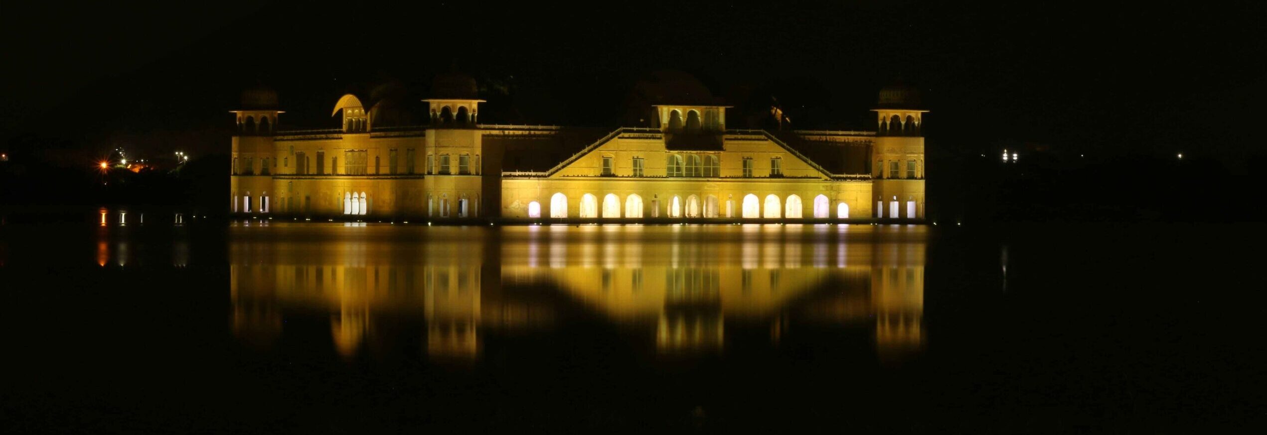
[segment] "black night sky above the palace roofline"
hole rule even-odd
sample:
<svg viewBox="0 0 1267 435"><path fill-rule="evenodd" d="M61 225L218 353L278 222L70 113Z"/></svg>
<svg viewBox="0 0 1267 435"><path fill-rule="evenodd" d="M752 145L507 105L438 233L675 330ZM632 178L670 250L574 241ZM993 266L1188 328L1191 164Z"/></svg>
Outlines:
<svg viewBox="0 0 1267 435"><path fill-rule="evenodd" d="M421 96L456 63L519 110L485 123L614 125L634 82L669 68L730 104L777 96L798 128L869 126L901 78L933 110L930 145L962 152L1261 153L1261 3L651 4L37 5L0 18L0 147L226 152L251 85L279 91L284 128L334 128L341 94Z"/></svg>

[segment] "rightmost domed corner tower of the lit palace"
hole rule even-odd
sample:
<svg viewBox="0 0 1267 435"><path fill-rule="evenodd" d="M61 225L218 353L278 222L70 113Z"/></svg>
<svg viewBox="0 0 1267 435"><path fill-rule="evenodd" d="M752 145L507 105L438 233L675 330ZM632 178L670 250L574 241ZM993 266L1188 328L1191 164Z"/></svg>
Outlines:
<svg viewBox="0 0 1267 435"><path fill-rule="evenodd" d="M924 114L920 92L910 86L879 91L872 176L875 218L922 220L924 215Z"/></svg>

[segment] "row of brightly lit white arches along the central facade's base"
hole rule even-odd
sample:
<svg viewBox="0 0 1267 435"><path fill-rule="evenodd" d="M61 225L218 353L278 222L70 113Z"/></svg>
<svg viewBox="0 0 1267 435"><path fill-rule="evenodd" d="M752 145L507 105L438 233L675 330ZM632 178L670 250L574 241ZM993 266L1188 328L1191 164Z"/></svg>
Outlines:
<svg viewBox="0 0 1267 435"><path fill-rule="evenodd" d="M623 215L621 205L623 204ZM831 200L826 195L818 195L813 197L813 209L811 210L812 218L815 219L829 219L831 218ZM550 218L570 218L569 216L569 200L563 192L554 193L550 197ZM742 202L736 206L734 200L726 200L722 204L715 195L704 195L699 197L698 195L688 195L685 199L674 195L668 199L665 204L665 212L668 218L744 218L744 219L803 219L805 205L798 195L788 195L787 199L780 199L778 195L767 195L765 200L760 200L755 193L748 193L744 196ZM602 212L599 212L602 211ZM602 218L602 219L618 219L618 218L644 218L644 202L642 197L631 193L621 201L616 193L607 193L603 196L602 207L599 207L598 197L593 193L584 193L580 197L580 204L576 207L578 218ZM651 201L651 216L659 218L660 205L659 200ZM836 219L849 218L849 204L840 201L836 204ZM541 204L537 201L528 202L528 218L541 218L542 209Z"/></svg>

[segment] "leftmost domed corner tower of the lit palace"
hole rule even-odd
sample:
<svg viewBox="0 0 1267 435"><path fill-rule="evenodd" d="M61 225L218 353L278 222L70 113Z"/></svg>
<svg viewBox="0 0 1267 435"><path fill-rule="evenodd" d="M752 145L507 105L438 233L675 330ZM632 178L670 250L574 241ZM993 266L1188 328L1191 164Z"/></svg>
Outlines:
<svg viewBox="0 0 1267 435"><path fill-rule="evenodd" d="M234 114L232 167L229 168L233 214L270 212L270 190L276 169L272 137L277 130L277 92L256 86L242 92L239 110Z"/></svg>

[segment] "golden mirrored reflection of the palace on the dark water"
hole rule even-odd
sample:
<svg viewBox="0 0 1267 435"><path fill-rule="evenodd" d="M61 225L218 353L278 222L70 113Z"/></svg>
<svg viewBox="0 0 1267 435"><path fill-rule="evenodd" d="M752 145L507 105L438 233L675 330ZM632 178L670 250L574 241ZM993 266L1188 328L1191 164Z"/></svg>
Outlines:
<svg viewBox="0 0 1267 435"><path fill-rule="evenodd" d="M897 225L234 228L232 325L258 346L283 340L295 319L328 324L331 346L345 357L421 340L428 357L470 359L489 336L551 334L579 311L660 354L726 352L735 334L759 331L778 345L801 330L839 328L872 335L886 358L924 340L925 233Z"/></svg>

